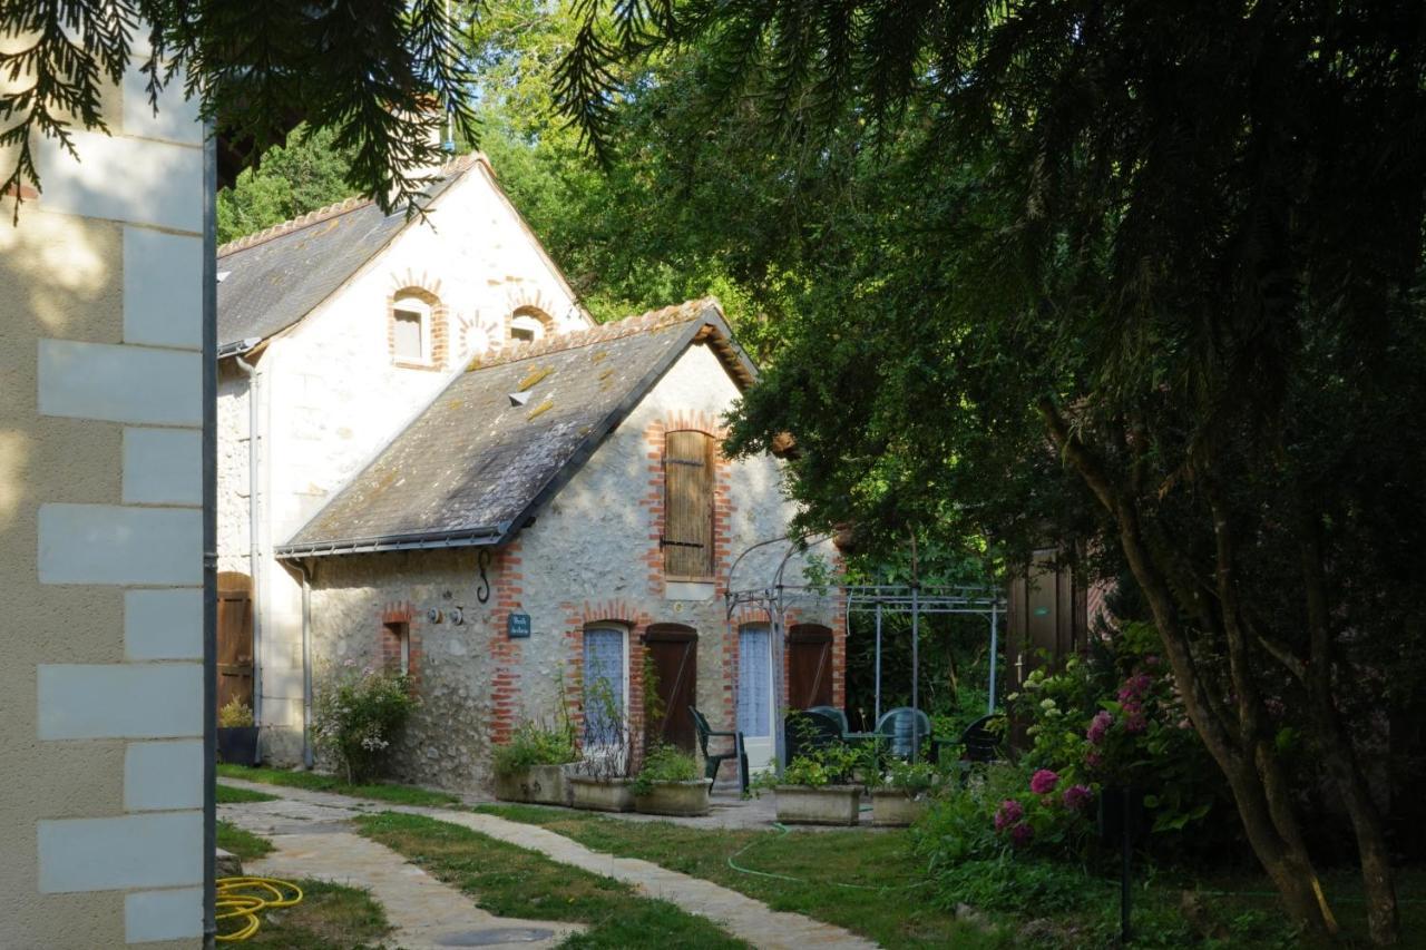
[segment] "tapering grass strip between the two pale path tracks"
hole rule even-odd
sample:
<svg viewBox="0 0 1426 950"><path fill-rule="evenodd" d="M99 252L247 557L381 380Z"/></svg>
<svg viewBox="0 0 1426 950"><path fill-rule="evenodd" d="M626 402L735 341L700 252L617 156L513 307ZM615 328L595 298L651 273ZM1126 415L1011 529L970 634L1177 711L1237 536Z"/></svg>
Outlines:
<svg viewBox="0 0 1426 950"><path fill-rule="evenodd" d="M385 844L502 917L589 924L565 946L580 949L746 947L703 917L640 897L612 877L553 862L469 829L415 814L365 814L362 834Z"/></svg>

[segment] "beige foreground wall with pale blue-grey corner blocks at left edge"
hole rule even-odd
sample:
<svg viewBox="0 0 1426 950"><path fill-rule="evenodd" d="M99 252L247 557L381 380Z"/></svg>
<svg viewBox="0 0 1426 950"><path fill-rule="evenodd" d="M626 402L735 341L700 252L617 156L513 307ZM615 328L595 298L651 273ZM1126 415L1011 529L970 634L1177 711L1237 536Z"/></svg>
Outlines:
<svg viewBox="0 0 1426 950"><path fill-rule="evenodd" d="M201 944L204 163L183 84L155 116L130 67L80 161L36 138L43 193L0 228L7 947Z"/></svg>

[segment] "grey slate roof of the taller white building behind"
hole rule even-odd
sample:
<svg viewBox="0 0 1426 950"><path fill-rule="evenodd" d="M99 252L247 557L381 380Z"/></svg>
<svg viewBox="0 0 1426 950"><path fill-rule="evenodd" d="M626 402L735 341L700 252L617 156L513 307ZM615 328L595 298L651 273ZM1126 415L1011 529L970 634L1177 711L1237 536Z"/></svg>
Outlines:
<svg viewBox="0 0 1426 950"><path fill-rule="evenodd" d="M435 201L482 157L441 168L426 194ZM218 248L218 347L265 339L299 321L409 224L371 198L348 198Z"/></svg>

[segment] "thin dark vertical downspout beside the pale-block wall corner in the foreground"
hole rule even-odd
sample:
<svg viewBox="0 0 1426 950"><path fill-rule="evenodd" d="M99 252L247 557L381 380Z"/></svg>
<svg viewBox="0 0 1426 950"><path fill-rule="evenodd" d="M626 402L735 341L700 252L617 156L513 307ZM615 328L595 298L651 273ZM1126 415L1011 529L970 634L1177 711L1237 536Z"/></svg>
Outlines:
<svg viewBox="0 0 1426 950"><path fill-rule="evenodd" d="M202 140L202 946L218 933L218 140L212 121Z"/></svg>

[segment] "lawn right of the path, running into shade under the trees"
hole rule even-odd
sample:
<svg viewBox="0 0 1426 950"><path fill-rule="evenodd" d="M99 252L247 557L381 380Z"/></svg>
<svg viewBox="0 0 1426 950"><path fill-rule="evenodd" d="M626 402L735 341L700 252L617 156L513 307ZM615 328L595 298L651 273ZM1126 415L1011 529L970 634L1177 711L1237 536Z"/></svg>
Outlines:
<svg viewBox="0 0 1426 950"><path fill-rule="evenodd" d="M523 805L479 806L476 812L539 824L586 847L620 857L640 857L662 867L702 877L764 902L834 923L897 947L1109 947L1119 919L1115 874L1089 874L1079 864L1017 856L1005 866L965 862L947 869L938 884L924 884L927 864L911 853L903 830L713 830L667 822L626 822L566 809ZM729 864L733 860L744 873ZM1007 873L1008 872L1008 873ZM780 874L800 880L767 877ZM881 884L886 890L840 884ZM913 884L923 884L920 887ZM1268 879L1252 870L1191 874L1172 869L1151 872L1139 860L1134 879L1134 937L1142 947L1299 946L1283 919ZM1348 946L1366 946L1362 880L1352 870L1323 874ZM1184 913L1185 892L1206 913L1195 926ZM1403 947L1426 947L1426 869L1399 870ZM965 902L1001 926L994 936L955 920L944 907ZM940 904L940 906L937 906ZM1216 931L1214 941L1204 931Z"/></svg>

